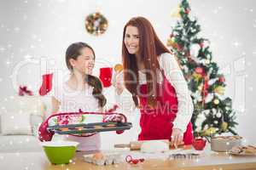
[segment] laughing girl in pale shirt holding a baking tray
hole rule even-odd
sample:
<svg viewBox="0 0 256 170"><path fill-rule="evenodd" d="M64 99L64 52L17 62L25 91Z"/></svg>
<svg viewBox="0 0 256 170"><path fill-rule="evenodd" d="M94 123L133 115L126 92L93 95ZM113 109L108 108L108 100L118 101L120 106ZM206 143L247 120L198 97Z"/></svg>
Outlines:
<svg viewBox="0 0 256 170"><path fill-rule="evenodd" d="M73 43L67 48L66 64L71 76L67 82L55 88L55 95L52 97L53 113L78 112L79 109L102 111L107 100L102 94L102 82L97 77L91 76L95 58L94 50L84 42ZM61 117L59 121L78 123L82 122L81 118L83 119L81 116ZM96 119L96 115L91 118ZM99 150L101 146L99 133L67 135L65 139L79 142L77 150Z"/></svg>

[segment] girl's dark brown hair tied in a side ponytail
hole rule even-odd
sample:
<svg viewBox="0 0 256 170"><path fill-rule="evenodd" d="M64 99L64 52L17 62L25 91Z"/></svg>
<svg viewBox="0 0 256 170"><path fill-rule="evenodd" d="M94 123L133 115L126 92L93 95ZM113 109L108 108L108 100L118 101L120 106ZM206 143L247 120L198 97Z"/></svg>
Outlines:
<svg viewBox="0 0 256 170"><path fill-rule="evenodd" d="M82 48L90 48L94 55L94 59L96 58L95 52L93 48L90 47L87 43L84 42L75 42L71 44L66 51L66 64L67 68L70 71L73 71L73 66L70 64L69 59L77 59L80 55L80 51ZM100 107L103 107L107 103L107 99L102 94L102 82L99 78L85 75L85 82L87 82L91 87L93 87L92 95L98 99L98 104Z"/></svg>

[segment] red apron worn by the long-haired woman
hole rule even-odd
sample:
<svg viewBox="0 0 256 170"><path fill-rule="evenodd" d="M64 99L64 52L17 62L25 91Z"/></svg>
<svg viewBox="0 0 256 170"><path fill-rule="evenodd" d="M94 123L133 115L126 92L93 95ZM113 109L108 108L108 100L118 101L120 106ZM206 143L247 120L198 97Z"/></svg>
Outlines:
<svg viewBox="0 0 256 170"><path fill-rule="evenodd" d="M172 87L164 72L162 71L163 82L157 83L157 106L155 109L149 109L147 105L147 84L140 85L140 109L141 133L138 140L153 139L171 139L172 122L177 114L177 94ZM191 122L187 126L187 130L183 133L184 144L192 144L193 128Z"/></svg>

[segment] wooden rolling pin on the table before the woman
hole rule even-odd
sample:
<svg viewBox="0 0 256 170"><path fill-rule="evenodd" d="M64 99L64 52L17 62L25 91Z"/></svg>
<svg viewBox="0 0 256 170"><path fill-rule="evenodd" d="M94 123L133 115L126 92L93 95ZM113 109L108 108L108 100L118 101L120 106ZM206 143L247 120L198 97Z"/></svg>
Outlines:
<svg viewBox="0 0 256 170"><path fill-rule="evenodd" d="M148 140L140 140L140 141L131 141L130 144L114 144L113 146L115 148L130 148L130 150L140 150L143 142L147 142ZM170 148L175 148L174 146L171 146L171 142L167 139L159 140L166 142L166 144L169 144ZM178 148L183 147L182 144L178 144Z"/></svg>

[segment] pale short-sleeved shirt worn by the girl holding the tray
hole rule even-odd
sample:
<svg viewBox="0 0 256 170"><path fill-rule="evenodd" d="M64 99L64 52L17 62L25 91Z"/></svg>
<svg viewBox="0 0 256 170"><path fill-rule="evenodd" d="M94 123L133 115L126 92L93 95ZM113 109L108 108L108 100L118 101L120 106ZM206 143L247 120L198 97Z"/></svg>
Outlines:
<svg viewBox="0 0 256 170"><path fill-rule="evenodd" d="M55 99L60 102L58 112L78 112L82 111L99 111L98 101L92 95L92 87L87 87L84 90L73 90L67 86L67 82L63 82L61 86L55 88ZM86 116L90 122L101 122L102 116ZM77 150L100 150L101 136L96 133L90 137L77 137L65 135L65 140L79 142Z"/></svg>

